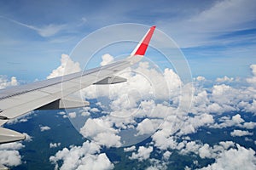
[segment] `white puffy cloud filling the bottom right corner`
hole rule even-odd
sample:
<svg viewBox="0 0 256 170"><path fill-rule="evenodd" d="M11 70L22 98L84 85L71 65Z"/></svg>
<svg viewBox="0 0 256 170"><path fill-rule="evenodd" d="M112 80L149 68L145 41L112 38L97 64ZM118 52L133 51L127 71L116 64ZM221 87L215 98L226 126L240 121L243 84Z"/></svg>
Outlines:
<svg viewBox="0 0 256 170"><path fill-rule="evenodd" d="M246 149L239 144L236 144L237 149L224 150L219 153L216 161L212 165L203 167L201 169L207 170L234 170L234 169L255 169L256 157L255 151L252 149Z"/></svg>

